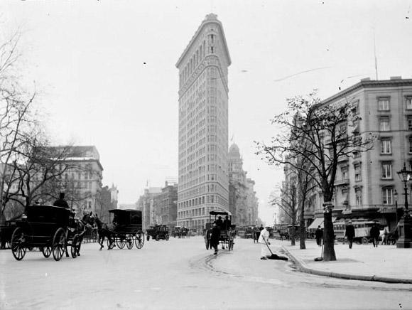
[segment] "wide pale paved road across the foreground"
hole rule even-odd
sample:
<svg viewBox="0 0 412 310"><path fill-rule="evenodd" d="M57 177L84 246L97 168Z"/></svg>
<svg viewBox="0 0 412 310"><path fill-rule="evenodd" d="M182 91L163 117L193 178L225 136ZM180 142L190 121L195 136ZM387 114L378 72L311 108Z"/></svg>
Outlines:
<svg viewBox="0 0 412 310"><path fill-rule="evenodd" d="M200 237L141 250L86 244L60 262L2 250L0 309L412 309L412 285L302 274L259 260L259 247L238 239L215 256Z"/></svg>

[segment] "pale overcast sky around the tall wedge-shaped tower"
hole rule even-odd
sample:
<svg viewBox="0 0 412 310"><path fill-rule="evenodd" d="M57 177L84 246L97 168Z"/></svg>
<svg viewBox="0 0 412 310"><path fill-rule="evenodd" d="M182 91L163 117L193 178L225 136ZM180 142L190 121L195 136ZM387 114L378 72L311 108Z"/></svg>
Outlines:
<svg viewBox="0 0 412 310"><path fill-rule="evenodd" d="M119 203L178 174L175 63L207 14L232 58L229 145L256 181L259 215L281 169L256 156L286 98L361 78L412 78L412 1L1 1L0 38L21 29L21 76L55 144L94 145ZM377 70L375 68L375 55Z"/></svg>

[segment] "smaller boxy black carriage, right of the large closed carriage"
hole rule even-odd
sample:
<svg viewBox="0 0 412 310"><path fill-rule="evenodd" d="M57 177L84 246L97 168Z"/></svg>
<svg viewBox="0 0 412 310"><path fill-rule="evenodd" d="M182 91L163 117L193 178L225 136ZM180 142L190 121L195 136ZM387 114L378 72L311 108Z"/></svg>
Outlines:
<svg viewBox="0 0 412 310"><path fill-rule="evenodd" d="M109 218L113 215L113 227L107 240L107 247L112 249L115 245L119 249L125 246L129 250L134 245L141 249L144 244L144 234L141 225L141 211L134 209L109 210Z"/></svg>

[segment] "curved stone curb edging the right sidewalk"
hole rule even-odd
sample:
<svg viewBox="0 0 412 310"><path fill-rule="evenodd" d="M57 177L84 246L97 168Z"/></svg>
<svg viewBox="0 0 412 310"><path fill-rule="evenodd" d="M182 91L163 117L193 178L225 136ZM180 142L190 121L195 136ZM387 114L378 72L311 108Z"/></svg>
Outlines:
<svg viewBox="0 0 412 310"><path fill-rule="evenodd" d="M306 264L300 260L298 257L294 256L291 252L289 252L286 247L283 245L281 246L282 250L286 252L288 257L295 262L296 266L298 267L300 272L305 272L308 274L316 274L319 276L324 277L335 277L340 279L349 279L349 280L362 280L362 281L376 281L376 282L386 282L386 283L402 283L402 284L412 284L412 279L399 279L399 278L392 278L392 277L379 277L376 275L373 276L365 276L361 274L342 274L339 272L327 272L324 270L313 269L306 266Z"/></svg>

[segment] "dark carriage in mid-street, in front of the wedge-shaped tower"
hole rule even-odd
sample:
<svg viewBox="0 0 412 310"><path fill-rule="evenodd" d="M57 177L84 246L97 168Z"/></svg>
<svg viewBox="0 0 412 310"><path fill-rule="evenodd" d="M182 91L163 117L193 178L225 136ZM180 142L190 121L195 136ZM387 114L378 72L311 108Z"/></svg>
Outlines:
<svg viewBox="0 0 412 310"><path fill-rule="evenodd" d="M205 232L205 245L206 250L212 249L210 244L210 237L212 234L212 223L216 221L218 215L227 216L232 222L232 214L226 211L210 211L209 223L206 223ZM214 219L212 217L214 216ZM222 245L222 249L233 250L234 236L236 235L236 225L222 225L220 228L219 244Z"/></svg>

